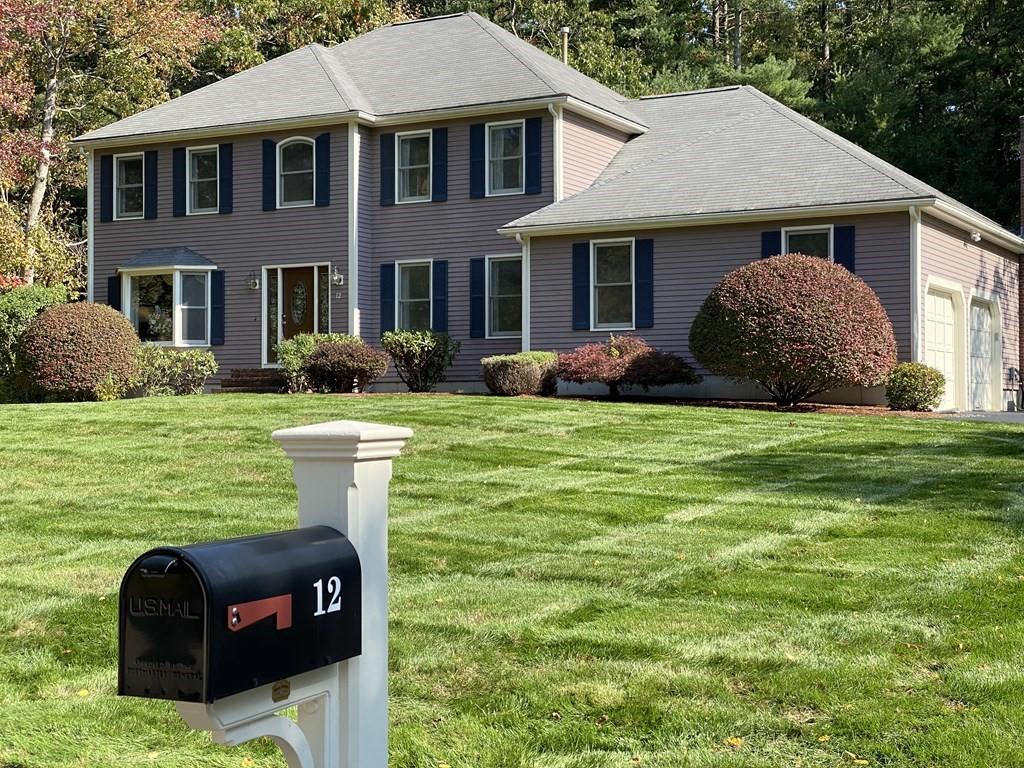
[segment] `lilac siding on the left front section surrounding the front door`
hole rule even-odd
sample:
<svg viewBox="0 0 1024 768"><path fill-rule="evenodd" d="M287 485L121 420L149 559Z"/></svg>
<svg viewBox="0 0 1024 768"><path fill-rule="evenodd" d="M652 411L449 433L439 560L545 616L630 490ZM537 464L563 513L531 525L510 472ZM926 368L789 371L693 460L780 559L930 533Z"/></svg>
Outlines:
<svg viewBox="0 0 1024 768"><path fill-rule="evenodd" d="M95 300L106 301L106 280L117 268L150 248L184 246L213 261L225 271L224 345L212 347L221 373L231 368L258 368L261 359L262 291L249 288L250 272L263 265L330 262L347 279L347 128L331 129L331 205L326 208L262 210L262 140L283 140L293 135L310 138L324 128L301 134L257 134L233 140L233 213L198 216L172 215L171 148L178 142L146 146L157 150L158 218L100 222L95 232ZM185 145L205 145L213 140ZM99 211L98 158L116 151L96 153L95 210ZM331 292L331 327L346 330L346 289Z"/></svg>

